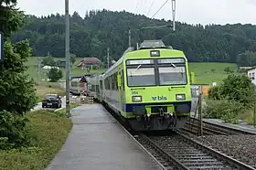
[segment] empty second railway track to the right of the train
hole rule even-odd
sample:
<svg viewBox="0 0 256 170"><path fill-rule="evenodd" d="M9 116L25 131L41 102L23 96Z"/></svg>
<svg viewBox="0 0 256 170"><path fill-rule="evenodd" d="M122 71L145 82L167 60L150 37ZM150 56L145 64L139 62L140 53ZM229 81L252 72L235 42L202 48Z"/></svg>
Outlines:
<svg viewBox="0 0 256 170"><path fill-rule="evenodd" d="M187 133L197 134L200 129L199 119L190 118L182 128L182 131ZM227 126L203 121L203 134L204 135L237 135L237 134L256 134L245 130L234 129Z"/></svg>

